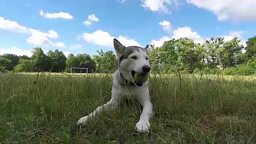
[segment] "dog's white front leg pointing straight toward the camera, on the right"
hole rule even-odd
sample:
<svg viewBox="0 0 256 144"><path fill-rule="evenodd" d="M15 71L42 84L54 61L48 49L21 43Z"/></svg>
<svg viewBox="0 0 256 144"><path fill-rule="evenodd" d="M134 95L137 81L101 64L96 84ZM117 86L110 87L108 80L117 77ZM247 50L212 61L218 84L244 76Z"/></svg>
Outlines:
<svg viewBox="0 0 256 144"><path fill-rule="evenodd" d="M146 93L140 99L140 104L143 107L142 113L140 114L140 120L136 123L137 132L149 132L150 124L149 119L153 113L153 104L150 102L149 92Z"/></svg>

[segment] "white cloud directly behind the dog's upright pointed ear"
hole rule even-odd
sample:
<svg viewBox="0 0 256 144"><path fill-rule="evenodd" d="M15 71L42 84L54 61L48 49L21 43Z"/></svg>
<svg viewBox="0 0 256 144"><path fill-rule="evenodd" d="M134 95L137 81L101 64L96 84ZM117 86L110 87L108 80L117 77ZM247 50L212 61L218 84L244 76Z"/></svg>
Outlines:
<svg viewBox="0 0 256 144"><path fill-rule="evenodd" d="M108 32L104 32L102 30L82 34L82 39L84 39L86 42L91 42L100 46L113 47L114 38L115 37L110 36ZM120 41L124 46L140 46L136 40L129 39L124 36L118 36L116 39L118 39L118 41Z"/></svg>

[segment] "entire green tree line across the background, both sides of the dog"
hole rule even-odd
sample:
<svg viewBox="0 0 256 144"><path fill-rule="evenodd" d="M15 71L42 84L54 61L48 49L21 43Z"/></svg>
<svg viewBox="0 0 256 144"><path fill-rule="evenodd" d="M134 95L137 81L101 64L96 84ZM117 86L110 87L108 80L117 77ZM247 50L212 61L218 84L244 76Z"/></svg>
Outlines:
<svg viewBox="0 0 256 144"><path fill-rule="evenodd" d="M224 41L223 37L212 37L202 44L188 38L165 41L160 47L151 45L150 64L154 73L180 72L187 74L252 75L256 74L256 36L248 38L247 46L234 37ZM243 50L245 52L243 52ZM113 51L98 54L69 54L49 50L46 54L40 47L33 48L32 56L3 54L0 56L0 71L15 72L70 72L71 67L88 68L88 73L112 73L117 69L117 58ZM72 69L84 72L83 69Z"/></svg>

